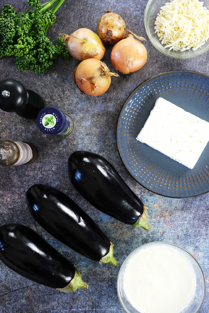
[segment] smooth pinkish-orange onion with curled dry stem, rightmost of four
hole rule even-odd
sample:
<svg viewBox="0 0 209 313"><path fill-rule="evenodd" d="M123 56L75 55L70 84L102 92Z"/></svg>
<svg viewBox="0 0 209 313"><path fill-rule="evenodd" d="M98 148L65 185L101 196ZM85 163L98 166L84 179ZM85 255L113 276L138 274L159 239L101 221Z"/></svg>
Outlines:
<svg viewBox="0 0 209 313"><path fill-rule="evenodd" d="M137 39L138 37L129 30L128 36L114 45L111 51L111 62L114 69L123 74L129 74L138 71L147 61L147 50ZM133 35L137 38L135 39Z"/></svg>

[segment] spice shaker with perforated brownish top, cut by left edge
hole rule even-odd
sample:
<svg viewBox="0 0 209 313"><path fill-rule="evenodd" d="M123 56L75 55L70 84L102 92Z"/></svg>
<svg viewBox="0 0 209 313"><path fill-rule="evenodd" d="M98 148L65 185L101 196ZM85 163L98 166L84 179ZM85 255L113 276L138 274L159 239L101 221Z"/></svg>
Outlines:
<svg viewBox="0 0 209 313"><path fill-rule="evenodd" d="M12 166L33 163L38 156L36 147L29 142L0 141L0 165Z"/></svg>

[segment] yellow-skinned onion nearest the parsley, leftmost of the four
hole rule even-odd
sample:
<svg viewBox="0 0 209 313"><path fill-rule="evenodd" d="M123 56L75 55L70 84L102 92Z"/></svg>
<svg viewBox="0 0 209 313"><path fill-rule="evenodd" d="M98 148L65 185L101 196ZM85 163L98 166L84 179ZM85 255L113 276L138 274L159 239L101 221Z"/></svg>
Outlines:
<svg viewBox="0 0 209 313"><path fill-rule="evenodd" d="M105 53L105 47L99 36L88 28L79 28L70 36L63 36L63 41L67 41L67 48L73 58L83 61L85 59L96 58L101 60Z"/></svg>

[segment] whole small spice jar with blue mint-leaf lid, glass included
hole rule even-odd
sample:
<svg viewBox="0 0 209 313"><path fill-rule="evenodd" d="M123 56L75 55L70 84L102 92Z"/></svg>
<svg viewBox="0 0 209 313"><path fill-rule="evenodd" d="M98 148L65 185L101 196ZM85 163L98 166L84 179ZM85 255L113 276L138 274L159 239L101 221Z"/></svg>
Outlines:
<svg viewBox="0 0 209 313"><path fill-rule="evenodd" d="M39 130L45 134L67 136L73 130L71 117L54 107L45 107L37 116Z"/></svg>

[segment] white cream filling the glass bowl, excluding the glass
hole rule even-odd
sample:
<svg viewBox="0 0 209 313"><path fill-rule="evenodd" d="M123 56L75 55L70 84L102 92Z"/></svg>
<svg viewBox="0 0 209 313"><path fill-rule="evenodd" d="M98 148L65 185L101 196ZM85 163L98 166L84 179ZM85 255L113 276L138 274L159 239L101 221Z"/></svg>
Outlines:
<svg viewBox="0 0 209 313"><path fill-rule="evenodd" d="M180 313L195 294L196 275L175 247L150 245L129 260L123 289L140 313Z"/></svg>

